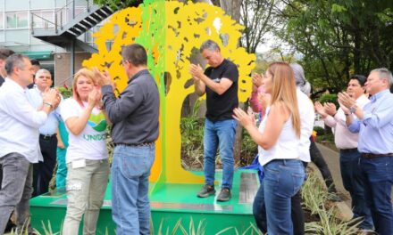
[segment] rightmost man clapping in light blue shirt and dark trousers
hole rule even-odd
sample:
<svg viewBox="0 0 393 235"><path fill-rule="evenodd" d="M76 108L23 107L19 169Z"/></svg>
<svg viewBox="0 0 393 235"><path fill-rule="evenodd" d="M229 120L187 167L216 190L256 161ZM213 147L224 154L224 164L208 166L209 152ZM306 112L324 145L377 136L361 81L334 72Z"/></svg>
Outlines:
<svg viewBox="0 0 393 235"><path fill-rule="evenodd" d="M389 92L392 83L389 69L373 69L365 83L365 89L372 97L363 109L348 93L339 93L348 128L359 133L357 150L362 153L360 168L365 202L371 208L375 231L380 235L389 235L393 231L390 197L393 185L393 94Z"/></svg>

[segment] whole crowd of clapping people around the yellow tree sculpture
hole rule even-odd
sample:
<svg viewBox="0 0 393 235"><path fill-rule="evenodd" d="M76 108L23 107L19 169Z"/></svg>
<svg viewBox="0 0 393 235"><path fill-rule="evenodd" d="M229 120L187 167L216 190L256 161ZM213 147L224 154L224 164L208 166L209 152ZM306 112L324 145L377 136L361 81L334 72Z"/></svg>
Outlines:
<svg viewBox="0 0 393 235"><path fill-rule="evenodd" d="M217 150L222 158L218 201L231 199L233 145L238 124L258 145L263 181L255 195L257 227L270 235L304 234L301 186L305 167L314 161L330 190L329 169L313 142L314 110L334 129L340 169L359 228L380 235L393 233L390 199L393 183L393 77L373 69L368 77L350 77L339 93L339 109L310 100L311 85L299 64L273 62L253 76L247 112L238 108L238 68L207 40L200 53L209 65L191 64L195 91L206 95L204 134L205 184L197 197L215 194ZM159 130L159 94L147 67L146 49L123 47L122 66L128 85L115 96L110 74L79 69L72 97L64 100L46 69L29 58L0 50L0 233L14 213L16 229L33 233L29 199L46 193L57 160L56 185L65 186L67 210L63 234L95 234L109 174L112 214L117 234L150 234L148 177L155 160ZM34 78L34 84L33 84ZM30 87L30 89L28 89ZM255 121L255 115L260 119ZM108 162L106 126L112 124L113 162ZM66 175L66 176L65 176Z"/></svg>

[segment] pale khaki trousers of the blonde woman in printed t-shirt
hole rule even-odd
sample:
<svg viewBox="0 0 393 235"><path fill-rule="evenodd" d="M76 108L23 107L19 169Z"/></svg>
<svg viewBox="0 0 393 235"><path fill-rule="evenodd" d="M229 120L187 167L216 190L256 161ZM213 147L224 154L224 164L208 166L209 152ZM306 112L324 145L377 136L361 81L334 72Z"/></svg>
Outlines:
<svg viewBox="0 0 393 235"><path fill-rule="evenodd" d="M96 234L96 222L103 206L108 184L108 160L86 160L86 166L72 168L68 165L67 212L63 223L63 235L78 234L83 219L83 234Z"/></svg>

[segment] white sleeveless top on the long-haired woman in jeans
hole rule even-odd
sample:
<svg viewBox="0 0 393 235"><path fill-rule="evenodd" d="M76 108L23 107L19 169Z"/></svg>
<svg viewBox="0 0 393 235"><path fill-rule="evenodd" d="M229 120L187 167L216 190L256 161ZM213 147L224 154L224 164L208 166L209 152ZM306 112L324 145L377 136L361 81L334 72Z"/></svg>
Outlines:
<svg viewBox="0 0 393 235"><path fill-rule="evenodd" d="M259 126L259 131L263 133L266 127L266 120L269 116L270 109L266 109L266 114ZM263 150L258 146L259 164L264 166L274 159L299 159L300 138L297 137L292 125L292 118L289 116L288 120L282 126L282 130L277 142L269 150Z"/></svg>

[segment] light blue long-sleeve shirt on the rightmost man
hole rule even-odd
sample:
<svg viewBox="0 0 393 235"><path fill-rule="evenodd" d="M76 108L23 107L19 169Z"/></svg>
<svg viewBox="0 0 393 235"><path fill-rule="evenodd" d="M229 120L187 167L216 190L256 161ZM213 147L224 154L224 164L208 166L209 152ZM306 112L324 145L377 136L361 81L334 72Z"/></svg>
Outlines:
<svg viewBox="0 0 393 235"><path fill-rule="evenodd" d="M359 132L357 150L365 153L393 153L393 94L389 89L372 95L364 105L364 118L354 119L349 131Z"/></svg>

